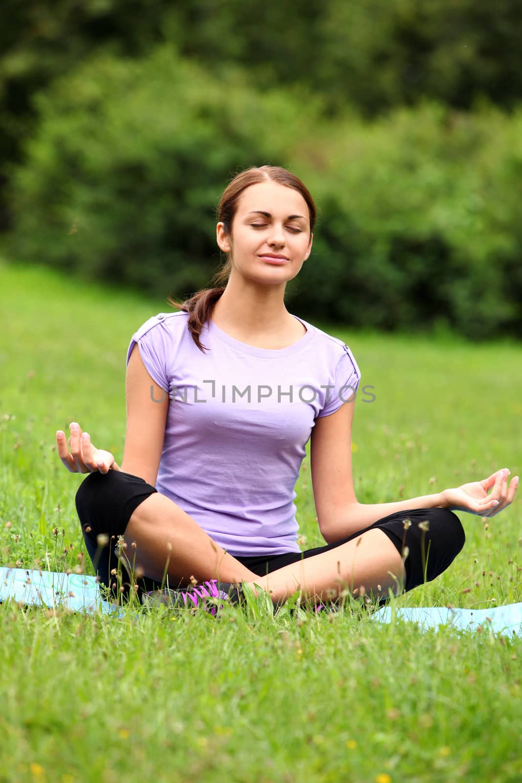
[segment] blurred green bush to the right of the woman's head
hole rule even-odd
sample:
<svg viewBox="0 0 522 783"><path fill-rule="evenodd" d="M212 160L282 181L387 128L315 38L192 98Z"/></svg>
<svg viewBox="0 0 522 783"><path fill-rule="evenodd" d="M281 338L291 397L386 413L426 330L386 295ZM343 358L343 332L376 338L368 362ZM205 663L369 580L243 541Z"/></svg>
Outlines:
<svg viewBox="0 0 522 783"><path fill-rule="evenodd" d="M316 132L322 220L296 285L315 317L522 337L522 110L424 104ZM317 156L316 156L317 157Z"/></svg>

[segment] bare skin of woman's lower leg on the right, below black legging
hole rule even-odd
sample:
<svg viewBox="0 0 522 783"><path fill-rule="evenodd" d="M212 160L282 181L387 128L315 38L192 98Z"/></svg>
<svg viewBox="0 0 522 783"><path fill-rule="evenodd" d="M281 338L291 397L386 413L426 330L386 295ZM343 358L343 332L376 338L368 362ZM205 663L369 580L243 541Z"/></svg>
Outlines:
<svg viewBox="0 0 522 783"><path fill-rule="evenodd" d="M336 549L258 576L250 583L268 590L275 603L282 603L300 589L304 597L322 597L323 601L344 589L360 594L361 586L367 595L373 592L374 597L388 597L389 587L394 594L401 592L404 579L405 567L397 548L386 533L373 529Z"/></svg>

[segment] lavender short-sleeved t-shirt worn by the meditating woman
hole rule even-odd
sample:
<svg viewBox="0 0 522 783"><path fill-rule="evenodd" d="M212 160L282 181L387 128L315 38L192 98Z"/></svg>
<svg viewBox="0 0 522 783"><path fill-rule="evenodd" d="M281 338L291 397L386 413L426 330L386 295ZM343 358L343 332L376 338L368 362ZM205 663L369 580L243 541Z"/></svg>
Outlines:
<svg viewBox="0 0 522 783"><path fill-rule="evenodd" d="M240 342L211 320L203 353L188 318L149 318L127 353L128 363L138 343L169 396L156 489L232 555L299 552L293 501L304 447L316 417L354 399L361 375L351 350L303 319L306 334L275 349Z"/></svg>

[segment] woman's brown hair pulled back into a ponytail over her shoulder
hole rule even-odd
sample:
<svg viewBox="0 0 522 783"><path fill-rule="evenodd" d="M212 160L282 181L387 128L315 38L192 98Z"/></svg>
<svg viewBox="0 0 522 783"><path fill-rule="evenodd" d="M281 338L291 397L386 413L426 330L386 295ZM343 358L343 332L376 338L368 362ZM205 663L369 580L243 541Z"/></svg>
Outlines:
<svg viewBox="0 0 522 783"><path fill-rule="evenodd" d="M219 206L216 210L216 216L218 222L223 222L225 233L231 233L232 221L234 215L236 215L239 196L243 193L243 190L250 185L257 184L257 182L266 182L270 179L272 179L273 182L279 182L280 185L293 188L301 193L301 196L308 206L310 233L313 231L317 211L315 209L314 200L312 199L308 188L301 182L301 179L296 177L296 175L291 174L286 168L281 168L280 166L252 166L236 175L231 182L229 182L229 185L225 188L225 191L221 196ZM175 299L171 299L170 297L167 298L170 305L189 313L189 332L192 333L193 341L196 343L197 347L200 348L201 352L204 352L203 348L205 348L205 346L200 343L201 330L207 320L210 319L214 305L220 298L229 281L232 261L230 260L228 253L225 253L225 256L225 262L211 279L211 285L215 287L202 288L183 302L175 301Z"/></svg>

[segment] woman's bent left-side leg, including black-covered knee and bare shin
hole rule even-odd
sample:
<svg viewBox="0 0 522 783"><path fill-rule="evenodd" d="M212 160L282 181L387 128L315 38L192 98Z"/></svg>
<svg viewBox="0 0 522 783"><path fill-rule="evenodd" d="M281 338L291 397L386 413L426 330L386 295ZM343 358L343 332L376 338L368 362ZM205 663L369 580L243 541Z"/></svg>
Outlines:
<svg viewBox="0 0 522 783"><path fill-rule="evenodd" d="M105 586L113 582L110 572L117 567L114 547L120 536L125 559L135 573L146 575L138 579L143 590L153 590L165 569L171 586L187 584L191 576L223 582L255 577L189 514L138 476L124 471L90 474L77 490L76 508L88 554Z"/></svg>

